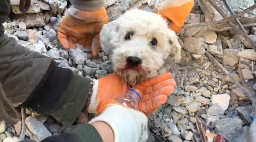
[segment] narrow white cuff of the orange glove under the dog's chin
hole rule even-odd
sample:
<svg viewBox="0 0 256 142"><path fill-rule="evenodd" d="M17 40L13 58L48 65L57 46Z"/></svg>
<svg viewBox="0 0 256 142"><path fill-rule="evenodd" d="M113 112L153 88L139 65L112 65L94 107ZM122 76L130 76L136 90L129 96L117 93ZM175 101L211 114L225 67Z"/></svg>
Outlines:
<svg viewBox="0 0 256 142"><path fill-rule="evenodd" d="M91 98L90 98L90 105L89 105L88 112L97 114L96 107L98 106L98 104L97 104L97 93L98 93L98 88L99 88L99 80L97 80L97 79L91 79L91 80L94 82L94 89L92 91L92 95L91 95Z"/></svg>

